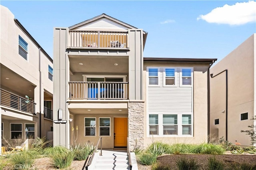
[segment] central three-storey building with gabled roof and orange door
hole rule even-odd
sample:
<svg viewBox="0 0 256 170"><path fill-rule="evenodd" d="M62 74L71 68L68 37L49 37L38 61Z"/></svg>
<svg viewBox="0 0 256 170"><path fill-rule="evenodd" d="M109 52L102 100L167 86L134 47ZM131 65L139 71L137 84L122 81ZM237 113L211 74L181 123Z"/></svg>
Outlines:
<svg viewBox="0 0 256 170"><path fill-rule="evenodd" d="M146 37L106 14L54 28L54 146L207 141L216 59L143 58Z"/></svg>

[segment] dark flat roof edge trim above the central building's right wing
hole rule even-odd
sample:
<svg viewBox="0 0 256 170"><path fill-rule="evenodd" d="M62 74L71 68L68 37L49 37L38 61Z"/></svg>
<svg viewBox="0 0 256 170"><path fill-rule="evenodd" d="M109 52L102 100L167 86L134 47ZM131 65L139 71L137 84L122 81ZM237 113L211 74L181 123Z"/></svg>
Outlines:
<svg viewBox="0 0 256 170"><path fill-rule="evenodd" d="M212 63L217 59L205 59L205 58L158 58L158 57L144 57L144 61L168 61L168 62L202 62Z"/></svg>

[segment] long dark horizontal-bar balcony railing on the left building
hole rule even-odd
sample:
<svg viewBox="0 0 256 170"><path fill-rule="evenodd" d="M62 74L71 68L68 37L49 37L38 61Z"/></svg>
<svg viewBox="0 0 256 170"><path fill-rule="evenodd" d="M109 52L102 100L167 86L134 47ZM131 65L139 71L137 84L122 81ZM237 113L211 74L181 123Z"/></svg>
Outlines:
<svg viewBox="0 0 256 170"><path fill-rule="evenodd" d="M0 89L0 104L18 111L35 114L36 103L14 93Z"/></svg>

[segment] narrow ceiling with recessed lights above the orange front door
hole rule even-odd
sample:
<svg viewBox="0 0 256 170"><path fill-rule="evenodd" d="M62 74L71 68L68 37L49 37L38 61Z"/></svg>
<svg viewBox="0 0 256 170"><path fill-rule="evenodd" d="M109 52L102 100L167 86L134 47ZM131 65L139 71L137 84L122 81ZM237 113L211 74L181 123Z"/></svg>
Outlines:
<svg viewBox="0 0 256 170"><path fill-rule="evenodd" d="M128 109L69 109L73 114L128 114Z"/></svg>

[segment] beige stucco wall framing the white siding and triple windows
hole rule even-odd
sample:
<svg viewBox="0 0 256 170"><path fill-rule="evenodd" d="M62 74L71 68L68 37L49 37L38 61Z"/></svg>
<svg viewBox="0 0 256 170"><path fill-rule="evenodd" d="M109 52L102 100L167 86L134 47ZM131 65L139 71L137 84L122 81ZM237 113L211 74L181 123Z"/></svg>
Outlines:
<svg viewBox="0 0 256 170"><path fill-rule="evenodd" d="M156 62L156 61L144 61L144 117L147 115L147 88L146 88L146 67L193 67L194 69L194 84L193 84L193 136L191 137L163 137L163 136L148 136L146 134L147 120L144 119L144 146L152 143L152 141L163 141L166 143L202 143L207 142L207 76L209 63L174 63L174 62Z"/></svg>

